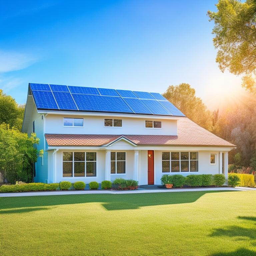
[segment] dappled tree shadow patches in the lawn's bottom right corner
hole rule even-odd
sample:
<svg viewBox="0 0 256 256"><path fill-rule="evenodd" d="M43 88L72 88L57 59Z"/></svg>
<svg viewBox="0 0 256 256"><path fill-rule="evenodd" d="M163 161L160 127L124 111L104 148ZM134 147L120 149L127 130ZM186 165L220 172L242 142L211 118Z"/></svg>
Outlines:
<svg viewBox="0 0 256 256"><path fill-rule="evenodd" d="M256 217L253 216L238 216L238 219L256 221ZM229 226L226 228L215 229L210 236L228 236L236 237L239 242L241 240L249 240L252 246L256 246L256 227L255 228L244 228L241 226ZM256 251L251 251L245 248L240 248L230 253L216 253L209 256L255 256Z"/></svg>

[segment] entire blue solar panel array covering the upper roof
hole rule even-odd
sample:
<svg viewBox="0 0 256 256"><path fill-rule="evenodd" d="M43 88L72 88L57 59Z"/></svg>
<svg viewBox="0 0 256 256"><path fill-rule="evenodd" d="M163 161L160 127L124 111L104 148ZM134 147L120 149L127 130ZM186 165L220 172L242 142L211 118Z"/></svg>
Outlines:
<svg viewBox="0 0 256 256"><path fill-rule="evenodd" d="M154 92L32 83L29 87L38 109L184 116Z"/></svg>

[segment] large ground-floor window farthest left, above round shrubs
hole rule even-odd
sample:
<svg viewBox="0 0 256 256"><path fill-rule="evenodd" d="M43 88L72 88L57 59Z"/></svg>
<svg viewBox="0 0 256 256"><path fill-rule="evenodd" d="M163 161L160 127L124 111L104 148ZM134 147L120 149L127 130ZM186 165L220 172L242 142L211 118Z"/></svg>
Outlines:
<svg viewBox="0 0 256 256"><path fill-rule="evenodd" d="M95 177L96 152L63 152L63 177Z"/></svg>

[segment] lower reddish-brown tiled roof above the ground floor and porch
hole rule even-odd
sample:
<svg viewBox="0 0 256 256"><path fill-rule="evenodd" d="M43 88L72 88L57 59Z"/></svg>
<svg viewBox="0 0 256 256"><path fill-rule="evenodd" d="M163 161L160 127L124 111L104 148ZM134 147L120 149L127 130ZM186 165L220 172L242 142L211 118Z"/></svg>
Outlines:
<svg viewBox="0 0 256 256"><path fill-rule="evenodd" d="M48 146L104 146L119 138L126 138L136 145L235 146L198 126L187 117L180 118L177 122L177 136L45 134L45 138Z"/></svg>

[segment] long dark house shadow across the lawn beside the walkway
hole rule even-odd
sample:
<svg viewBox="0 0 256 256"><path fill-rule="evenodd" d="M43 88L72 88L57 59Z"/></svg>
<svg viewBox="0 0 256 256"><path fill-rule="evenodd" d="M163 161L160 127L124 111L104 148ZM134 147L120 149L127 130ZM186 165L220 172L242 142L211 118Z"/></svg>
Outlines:
<svg viewBox="0 0 256 256"><path fill-rule="evenodd" d="M138 194L79 194L28 197L0 197L0 215L45 210L48 206L102 203L106 210L130 210L143 206L192 203L207 193L237 193L239 191L190 191L175 193L138 193ZM20 209L19 209L20 208ZM50 208L49 208L50 209ZM4 210L4 211L3 211Z"/></svg>

